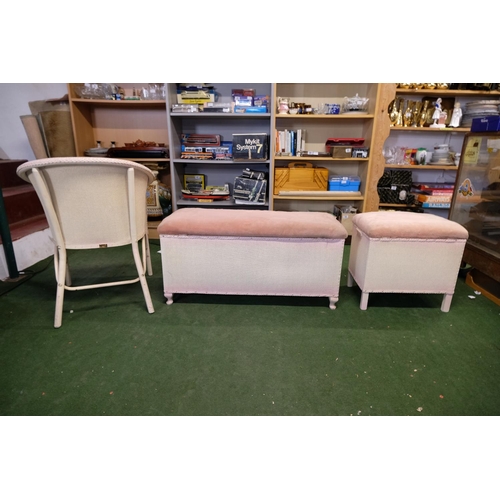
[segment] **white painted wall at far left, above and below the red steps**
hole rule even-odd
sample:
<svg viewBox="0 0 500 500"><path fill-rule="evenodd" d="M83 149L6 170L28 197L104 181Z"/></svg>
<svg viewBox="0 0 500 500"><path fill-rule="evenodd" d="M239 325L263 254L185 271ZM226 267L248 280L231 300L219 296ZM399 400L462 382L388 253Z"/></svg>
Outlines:
<svg viewBox="0 0 500 500"><path fill-rule="evenodd" d="M29 102L62 97L66 83L0 83L0 158L34 160L21 115L31 114ZM48 229L13 242L19 271L49 257L53 253ZM8 278L3 245L0 245L0 280Z"/></svg>

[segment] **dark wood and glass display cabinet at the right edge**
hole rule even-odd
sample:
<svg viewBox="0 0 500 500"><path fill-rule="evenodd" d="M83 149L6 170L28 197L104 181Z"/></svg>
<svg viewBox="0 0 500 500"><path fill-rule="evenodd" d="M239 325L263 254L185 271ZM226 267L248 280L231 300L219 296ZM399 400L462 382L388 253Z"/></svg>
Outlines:
<svg viewBox="0 0 500 500"><path fill-rule="evenodd" d="M469 231L466 282L500 305L500 132L465 135L449 219Z"/></svg>

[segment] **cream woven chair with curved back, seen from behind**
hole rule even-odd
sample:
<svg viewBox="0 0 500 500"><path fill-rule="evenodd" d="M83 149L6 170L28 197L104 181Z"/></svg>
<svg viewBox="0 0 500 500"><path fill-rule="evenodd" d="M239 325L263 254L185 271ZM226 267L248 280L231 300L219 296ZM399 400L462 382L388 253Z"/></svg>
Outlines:
<svg viewBox="0 0 500 500"><path fill-rule="evenodd" d="M145 277L146 269L148 275L153 274L146 213L146 190L153 181L151 170L127 160L59 157L23 163L17 174L33 184L54 239L54 327L62 324L65 290L140 282L148 312L153 313ZM71 286L67 250L124 245L132 246L137 278Z"/></svg>

